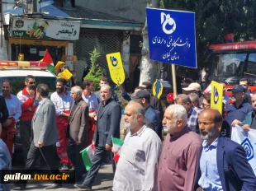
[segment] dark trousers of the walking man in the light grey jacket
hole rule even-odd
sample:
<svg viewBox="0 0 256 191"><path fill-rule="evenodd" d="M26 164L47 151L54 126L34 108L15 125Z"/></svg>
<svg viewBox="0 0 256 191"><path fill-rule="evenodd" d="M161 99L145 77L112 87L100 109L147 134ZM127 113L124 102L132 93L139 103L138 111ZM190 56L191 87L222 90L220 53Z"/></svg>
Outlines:
<svg viewBox="0 0 256 191"><path fill-rule="evenodd" d="M59 175L59 162L57 161L55 155L55 147L54 145L45 146L45 147L36 147L34 141L31 142L30 150L27 154L27 160L25 165L25 170L23 174L30 174L29 170L31 170L32 166L35 164L36 159L39 156L42 156L45 160L46 165L51 170L53 175ZM26 183L26 181L24 182ZM55 180L56 184L61 184L61 180Z"/></svg>

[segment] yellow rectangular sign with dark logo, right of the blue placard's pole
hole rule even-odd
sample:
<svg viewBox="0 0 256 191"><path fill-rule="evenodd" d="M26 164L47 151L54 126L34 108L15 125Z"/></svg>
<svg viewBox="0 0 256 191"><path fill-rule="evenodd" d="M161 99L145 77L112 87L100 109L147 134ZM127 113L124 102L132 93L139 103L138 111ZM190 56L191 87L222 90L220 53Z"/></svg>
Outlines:
<svg viewBox="0 0 256 191"><path fill-rule="evenodd" d="M222 114L223 86L211 81L211 108L217 109Z"/></svg>

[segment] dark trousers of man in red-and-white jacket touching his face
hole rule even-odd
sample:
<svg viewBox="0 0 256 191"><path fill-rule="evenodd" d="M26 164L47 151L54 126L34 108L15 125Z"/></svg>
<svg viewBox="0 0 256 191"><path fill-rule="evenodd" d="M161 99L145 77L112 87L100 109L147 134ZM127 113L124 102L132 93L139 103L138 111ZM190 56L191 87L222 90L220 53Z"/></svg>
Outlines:
<svg viewBox="0 0 256 191"><path fill-rule="evenodd" d="M31 121L22 121L20 120L20 132L21 132L21 144L22 144L22 156L23 161L26 164L26 158L28 151L31 147L31 142L33 139L32 125ZM36 167L40 167L40 157L36 160Z"/></svg>

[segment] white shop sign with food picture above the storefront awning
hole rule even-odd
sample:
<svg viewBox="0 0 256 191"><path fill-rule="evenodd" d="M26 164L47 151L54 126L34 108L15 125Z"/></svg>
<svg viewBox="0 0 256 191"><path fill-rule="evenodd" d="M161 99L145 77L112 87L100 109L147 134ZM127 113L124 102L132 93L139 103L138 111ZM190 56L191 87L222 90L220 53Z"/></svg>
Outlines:
<svg viewBox="0 0 256 191"><path fill-rule="evenodd" d="M20 25L20 23L23 25ZM12 18L12 37L36 40L78 40L80 22Z"/></svg>

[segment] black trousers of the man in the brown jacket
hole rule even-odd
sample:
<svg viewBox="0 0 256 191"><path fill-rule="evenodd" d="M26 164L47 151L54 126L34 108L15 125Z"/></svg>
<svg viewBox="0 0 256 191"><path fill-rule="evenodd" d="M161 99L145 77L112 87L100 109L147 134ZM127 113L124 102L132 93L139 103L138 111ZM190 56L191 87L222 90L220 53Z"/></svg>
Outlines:
<svg viewBox="0 0 256 191"><path fill-rule="evenodd" d="M75 182L78 182L83 179L83 172L85 171L85 167L83 165L83 159L80 151L85 148L86 142L82 142L77 145L76 142L73 141L72 137L69 137L67 152L69 159L72 161L75 167Z"/></svg>

